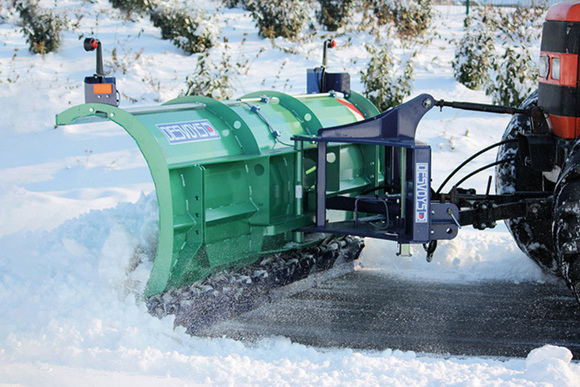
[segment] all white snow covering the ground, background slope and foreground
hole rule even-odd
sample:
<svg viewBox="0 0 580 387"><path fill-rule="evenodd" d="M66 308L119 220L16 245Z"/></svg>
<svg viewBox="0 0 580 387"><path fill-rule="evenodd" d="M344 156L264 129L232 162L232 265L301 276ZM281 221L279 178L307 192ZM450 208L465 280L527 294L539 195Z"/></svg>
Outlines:
<svg viewBox="0 0 580 387"><path fill-rule="evenodd" d="M201 3L209 10L214 4ZM71 10L82 9L84 17L64 32L57 53L32 55L18 18L7 2L0 4L0 385L580 385L580 365L563 347L538 348L526 359L494 359L320 349L283 337L250 344L190 337L174 328L172 318L152 317L141 298L157 232L145 161L120 128L54 128L54 115L82 103L82 79L94 71L81 37L103 42L122 106L176 97L196 57L161 40L147 19L123 19L105 0L58 2L61 14L72 17ZM416 59L413 95L489 102L453 80L450 42L461 36L463 16L439 10L438 35ZM257 88L305 89L304 69L320 61L320 34L304 43L277 39L275 47L258 37L241 9L223 10L219 23L232 60L247 61L247 74L234 80L235 96ZM355 90L361 90L359 71L368 61L363 43L371 40L349 32L339 39L344 47L330 52L330 66L347 69ZM223 50L223 44L212 50L214 59ZM418 137L433 148L434 182L499 140L507 121L430 112ZM485 174L470 180L479 190L486 181ZM420 251L403 258L395 249L367 241L361 270L417 281L555 281L517 249L502 224L485 232L460 230L455 240L440 243L429 264Z"/></svg>

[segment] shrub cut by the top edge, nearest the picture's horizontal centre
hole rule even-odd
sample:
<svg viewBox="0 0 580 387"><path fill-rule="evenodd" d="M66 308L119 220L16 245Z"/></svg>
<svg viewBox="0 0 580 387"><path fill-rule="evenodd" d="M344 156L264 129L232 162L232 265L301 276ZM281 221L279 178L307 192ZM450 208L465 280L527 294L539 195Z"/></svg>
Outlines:
<svg viewBox="0 0 580 387"><path fill-rule="evenodd" d="M265 38L296 40L310 18L311 4L304 0L248 0L246 7Z"/></svg>

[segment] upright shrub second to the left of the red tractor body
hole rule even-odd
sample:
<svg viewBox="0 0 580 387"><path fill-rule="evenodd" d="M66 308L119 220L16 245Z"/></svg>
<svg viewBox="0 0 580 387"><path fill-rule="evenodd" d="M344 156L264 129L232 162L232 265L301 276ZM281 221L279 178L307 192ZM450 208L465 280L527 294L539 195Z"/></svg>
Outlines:
<svg viewBox="0 0 580 387"><path fill-rule="evenodd" d="M485 86L490 79L495 43L492 32L480 28L472 18L465 20L465 34L455 49L451 62L455 79L472 90Z"/></svg>

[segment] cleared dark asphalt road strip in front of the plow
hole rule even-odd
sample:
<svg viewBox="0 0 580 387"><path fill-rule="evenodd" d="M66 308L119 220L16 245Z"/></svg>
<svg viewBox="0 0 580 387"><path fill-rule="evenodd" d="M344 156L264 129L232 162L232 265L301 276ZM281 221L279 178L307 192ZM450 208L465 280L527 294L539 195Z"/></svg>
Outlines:
<svg viewBox="0 0 580 387"><path fill-rule="evenodd" d="M508 357L554 344L580 359L580 307L563 283L427 283L363 270L197 335L285 336L317 347Z"/></svg>

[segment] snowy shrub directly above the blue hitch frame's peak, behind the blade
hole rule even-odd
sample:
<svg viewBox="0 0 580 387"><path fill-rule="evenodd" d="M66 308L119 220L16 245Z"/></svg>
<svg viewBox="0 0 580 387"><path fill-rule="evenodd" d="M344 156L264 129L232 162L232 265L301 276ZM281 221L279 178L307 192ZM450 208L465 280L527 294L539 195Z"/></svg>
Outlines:
<svg viewBox="0 0 580 387"><path fill-rule="evenodd" d="M400 105L413 89L413 60L411 54L405 60L397 59L384 45L382 48L367 45L370 61L366 71L361 71L365 85L364 95L380 111Z"/></svg>

